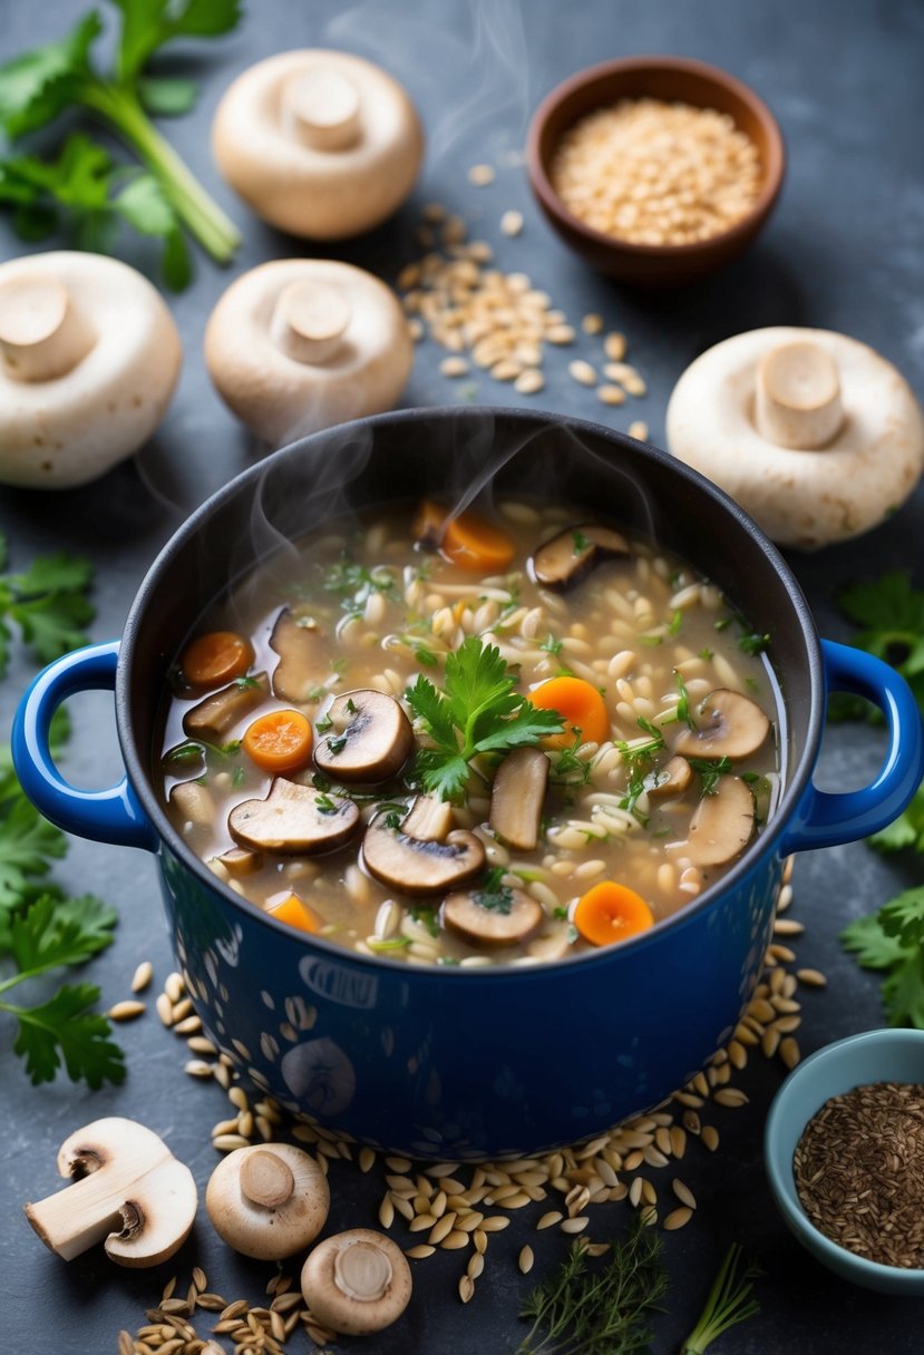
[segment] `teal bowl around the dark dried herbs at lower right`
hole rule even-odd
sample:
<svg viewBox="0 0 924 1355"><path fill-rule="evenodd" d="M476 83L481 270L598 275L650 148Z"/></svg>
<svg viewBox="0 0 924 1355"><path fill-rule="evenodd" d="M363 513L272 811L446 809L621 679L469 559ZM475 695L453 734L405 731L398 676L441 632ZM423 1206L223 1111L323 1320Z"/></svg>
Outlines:
<svg viewBox="0 0 924 1355"><path fill-rule="evenodd" d="M809 1222L795 1190L793 1154L802 1130L832 1096L866 1083L924 1083L924 1031L849 1035L825 1045L790 1073L776 1092L764 1131L770 1188L790 1230L828 1270L863 1289L924 1298L924 1270L879 1266L832 1243Z"/></svg>

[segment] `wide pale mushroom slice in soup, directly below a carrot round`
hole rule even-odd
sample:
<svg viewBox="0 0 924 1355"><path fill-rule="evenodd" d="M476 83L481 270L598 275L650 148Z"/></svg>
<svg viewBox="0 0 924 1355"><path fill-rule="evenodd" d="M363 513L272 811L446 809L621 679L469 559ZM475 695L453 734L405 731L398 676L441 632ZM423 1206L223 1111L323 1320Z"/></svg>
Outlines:
<svg viewBox="0 0 924 1355"><path fill-rule="evenodd" d="M359 827L352 799L327 795L276 776L266 799L244 799L228 816L228 831L240 847L285 855L333 851Z"/></svg>

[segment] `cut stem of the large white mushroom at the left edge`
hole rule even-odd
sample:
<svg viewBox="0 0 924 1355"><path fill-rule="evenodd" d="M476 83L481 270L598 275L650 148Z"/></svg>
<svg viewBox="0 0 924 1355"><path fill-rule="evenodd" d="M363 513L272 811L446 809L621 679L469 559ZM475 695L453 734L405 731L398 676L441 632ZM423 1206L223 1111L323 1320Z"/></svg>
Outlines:
<svg viewBox="0 0 924 1355"><path fill-rule="evenodd" d="M0 286L0 352L14 381L64 377L95 341L57 278L34 274Z"/></svg>

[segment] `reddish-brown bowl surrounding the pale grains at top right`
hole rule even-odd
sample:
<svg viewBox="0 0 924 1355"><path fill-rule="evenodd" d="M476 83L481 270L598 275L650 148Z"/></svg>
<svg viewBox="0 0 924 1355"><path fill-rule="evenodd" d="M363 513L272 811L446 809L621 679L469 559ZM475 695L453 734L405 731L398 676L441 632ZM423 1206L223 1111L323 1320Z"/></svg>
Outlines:
<svg viewBox="0 0 924 1355"><path fill-rule="evenodd" d="M568 210L546 172L541 141L546 123L554 110L565 99L570 98L576 89L583 89L584 85L604 76L630 72L644 73L646 70L687 70L691 75L703 76L706 80L711 80L713 84L722 85L737 95L741 103L751 108L764 127L768 163L764 167L764 182L757 201L748 214L736 221L728 230L721 230L706 240L691 240L683 245L648 245L634 240L622 240L619 236L608 236L603 230L597 230L596 226L588 226L585 221L581 221L580 217ZM690 259L707 252L713 245L725 244L726 240L738 240L742 236L749 236L755 225L763 221L783 187L783 178L786 175L786 141L770 106L744 80L738 80L737 76L730 75L721 66L711 65L709 61L698 61L695 57L669 57L650 53L635 57L615 57L611 61L599 61L596 65L584 66L583 70L577 70L573 76L555 85L554 89L550 89L530 119L526 141L526 164L532 188L546 211L557 217L564 226L583 236L589 244L637 259Z"/></svg>

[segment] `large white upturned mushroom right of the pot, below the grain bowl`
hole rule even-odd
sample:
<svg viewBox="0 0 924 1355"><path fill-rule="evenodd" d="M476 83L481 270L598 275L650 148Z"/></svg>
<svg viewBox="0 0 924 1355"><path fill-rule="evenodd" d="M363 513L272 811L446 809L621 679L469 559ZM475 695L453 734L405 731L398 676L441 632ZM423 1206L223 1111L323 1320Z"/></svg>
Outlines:
<svg viewBox="0 0 924 1355"><path fill-rule="evenodd" d="M673 389L675 457L784 546L875 527L924 470L924 419L879 354L829 329L752 329L707 350Z"/></svg>

